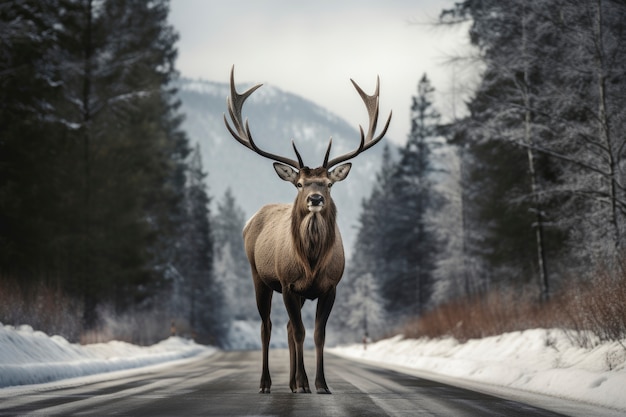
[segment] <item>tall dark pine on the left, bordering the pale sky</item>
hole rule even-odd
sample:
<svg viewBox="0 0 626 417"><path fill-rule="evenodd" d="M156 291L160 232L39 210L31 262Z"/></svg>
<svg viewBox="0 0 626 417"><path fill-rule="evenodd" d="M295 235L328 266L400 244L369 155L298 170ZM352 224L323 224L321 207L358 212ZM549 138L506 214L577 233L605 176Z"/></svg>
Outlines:
<svg viewBox="0 0 626 417"><path fill-rule="evenodd" d="M183 195L171 184L188 149L168 86L177 36L167 25L167 1L85 0L76 6L78 17L85 17L66 35L66 59L76 64L75 72L62 75L67 98L60 108L79 126L85 218L79 236L86 255L75 287L85 296L86 324L92 325L89 313L98 299L122 311L147 297L143 289L159 279L149 268L161 263L163 235L175 232L171 214ZM73 103L80 107L73 110Z"/></svg>

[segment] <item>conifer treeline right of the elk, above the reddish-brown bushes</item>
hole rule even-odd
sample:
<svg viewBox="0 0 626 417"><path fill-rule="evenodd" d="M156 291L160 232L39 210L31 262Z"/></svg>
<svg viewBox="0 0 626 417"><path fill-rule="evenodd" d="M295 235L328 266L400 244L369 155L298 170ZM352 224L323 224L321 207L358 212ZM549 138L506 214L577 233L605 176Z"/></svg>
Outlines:
<svg viewBox="0 0 626 417"><path fill-rule="evenodd" d="M414 108L399 161L387 154L363 203L347 269L348 292L371 282L368 302L384 309L346 321L384 328L500 290L545 302L624 253L626 4L465 0L441 14L460 22L476 53L457 62L481 69L467 116L416 142L416 124L437 122ZM438 137L449 152L437 156Z"/></svg>

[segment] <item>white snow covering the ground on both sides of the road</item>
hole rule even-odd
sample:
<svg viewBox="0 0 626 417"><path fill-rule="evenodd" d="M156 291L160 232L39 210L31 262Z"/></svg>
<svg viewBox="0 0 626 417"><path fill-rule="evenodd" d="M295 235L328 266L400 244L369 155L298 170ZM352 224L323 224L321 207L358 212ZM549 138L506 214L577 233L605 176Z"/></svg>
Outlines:
<svg viewBox="0 0 626 417"><path fill-rule="evenodd" d="M233 344L255 348L259 329L254 324L237 323ZM625 344L584 349L561 330L538 329L466 343L396 336L370 343L367 349L355 344L328 351L490 393L509 397L520 393L522 401L527 399L525 393L536 393L626 415ZM128 370L215 351L178 337L148 347L124 342L78 345L29 326L0 323L0 388Z"/></svg>

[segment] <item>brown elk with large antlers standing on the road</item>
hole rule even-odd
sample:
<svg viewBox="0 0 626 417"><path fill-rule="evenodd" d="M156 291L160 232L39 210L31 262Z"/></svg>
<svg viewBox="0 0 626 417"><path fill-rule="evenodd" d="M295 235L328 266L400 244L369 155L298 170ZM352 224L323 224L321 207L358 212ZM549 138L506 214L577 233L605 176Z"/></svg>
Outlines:
<svg viewBox="0 0 626 417"><path fill-rule="evenodd" d="M326 323L335 302L337 284L344 270L344 251L341 235L336 224L337 209L330 196L331 186L344 180L350 172L351 163L346 162L378 143L385 135L391 113L382 132L374 137L378 120L379 79L373 95L366 94L353 80L352 84L363 99L369 114L369 128L361 132L359 147L329 160L332 138L328 143L321 167L309 168L292 140L297 160L275 155L260 149L250 133L248 120L242 120L241 110L245 100L262 84L239 94L235 89L234 66L230 73L230 97L227 107L232 120L231 127L226 114L224 123L230 134L246 148L271 159L278 176L292 183L297 189L293 204L269 204L263 206L243 230L244 246L250 262L256 302L261 316L261 343L263 368L261 393L269 393L272 381L268 367L268 353L272 322L271 301L274 291L282 293L289 316L287 324L290 371L289 387L292 392L310 393L303 362L305 337L301 309L306 299L317 299L314 341L316 349L315 388L319 394L330 394L324 376L324 341ZM337 166L338 165L338 166ZM335 167L334 169L331 169Z"/></svg>

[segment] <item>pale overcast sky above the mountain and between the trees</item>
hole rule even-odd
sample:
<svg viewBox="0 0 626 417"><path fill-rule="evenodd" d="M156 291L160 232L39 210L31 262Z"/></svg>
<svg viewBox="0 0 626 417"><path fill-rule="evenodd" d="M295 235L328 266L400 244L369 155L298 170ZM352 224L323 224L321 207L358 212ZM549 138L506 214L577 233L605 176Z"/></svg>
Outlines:
<svg viewBox="0 0 626 417"><path fill-rule="evenodd" d="M177 67L185 77L276 86L367 126L350 83L372 93L380 75L381 119L394 116L389 138L409 131L411 97L426 72L438 110L452 112L452 80L444 62L467 48L467 28L433 28L453 0L171 0L178 30ZM459 107L456 108L459 110ZM383 121L381 121L382 123ZM289 139L287 139L289 140Z"/></svg>

